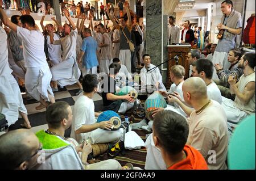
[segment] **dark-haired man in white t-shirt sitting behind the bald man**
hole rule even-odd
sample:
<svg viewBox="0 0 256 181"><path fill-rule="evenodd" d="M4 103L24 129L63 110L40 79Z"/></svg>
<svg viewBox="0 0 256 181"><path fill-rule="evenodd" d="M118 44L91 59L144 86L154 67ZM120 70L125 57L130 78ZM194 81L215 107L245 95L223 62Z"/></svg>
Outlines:
<svg viewBox="0 0 256 181"><path fill-rule="evenodd" d="M217 101L218 103L222 103L221 92L218 89L218 86L212 80L213 76L213 63L212 61L200 58L199 60L193 62L192 64L192 75L193 77L200 77L204 80L207 85L207 94L208 98ZM185 102L180 98L179 94L175 94L175 96L171 96L169 102L176 102L182 108L182 110L187 114L187 116L191 115L193 109L186 105Z"/></svg>

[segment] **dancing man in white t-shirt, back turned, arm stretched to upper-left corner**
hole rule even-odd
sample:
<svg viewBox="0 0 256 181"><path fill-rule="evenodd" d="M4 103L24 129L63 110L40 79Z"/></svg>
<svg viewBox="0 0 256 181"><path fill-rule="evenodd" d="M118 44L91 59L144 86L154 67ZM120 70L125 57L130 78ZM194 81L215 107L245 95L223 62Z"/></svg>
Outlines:
<svg viewBox="0 0 256 181"><path fill-rule="evenodd" d="M36 26L35 20L30 15L22 15L22 27L19 27L9 20L2 9L0 17L3 24L17 32L18 37L22 39L23 56L27 67L25 86L28 93L41 103L36 109L47 107L47 102L54 103L54 95L49 85L52 75L44 53L44 36Z"/></svg>

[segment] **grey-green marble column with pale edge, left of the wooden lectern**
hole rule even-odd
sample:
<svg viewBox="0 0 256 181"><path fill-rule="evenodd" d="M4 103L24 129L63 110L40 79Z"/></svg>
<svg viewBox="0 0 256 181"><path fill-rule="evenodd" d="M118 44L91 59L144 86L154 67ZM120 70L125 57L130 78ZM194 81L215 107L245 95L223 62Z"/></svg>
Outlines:
<svg viewBox="0 0 256 181"><path fill-rule="evenodd" d="M147 0L146 4L146 47L151 63L158 65L168 60L168 16L174 14L177 0ZM163 9L163 11L162 11ZM163 21L162 21L163 18ZM163 46L162 46L163 45ZM162 69L163 68L163 69ZM167 82L167 64L159 66L163 83ZM169 88L169 87L168 87Z"/></svg>

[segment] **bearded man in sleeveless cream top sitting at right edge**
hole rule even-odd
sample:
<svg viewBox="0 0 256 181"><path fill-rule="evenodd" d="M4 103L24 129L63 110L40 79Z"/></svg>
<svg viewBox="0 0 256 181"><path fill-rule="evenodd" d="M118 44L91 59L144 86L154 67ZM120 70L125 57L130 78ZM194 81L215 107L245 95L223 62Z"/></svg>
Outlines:
<svg viewBox="0 0 256 181"><path fill-rule="evenodd" d="M242 68L244 73L240 81L237 82L236 77L232 75L228 79L230 93L236 95L235 100L222 97L222 107L228 117L230 131L233 131L242 119L255 114L255 53L243 54L237 68Z"/></svg>

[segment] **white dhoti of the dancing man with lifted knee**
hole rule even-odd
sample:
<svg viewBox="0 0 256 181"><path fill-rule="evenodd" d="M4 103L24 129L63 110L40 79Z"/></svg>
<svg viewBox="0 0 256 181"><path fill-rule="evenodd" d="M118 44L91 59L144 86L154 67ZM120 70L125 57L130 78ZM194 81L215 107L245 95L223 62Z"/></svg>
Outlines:
<svg viewBox="0 0 256 181"><path fill-rule="evenodd" d="M52 81L56 81L57 84L62 87L77 83L81 75L81 71L73 57L53 66L51 68L51 73Z"/></svg>

